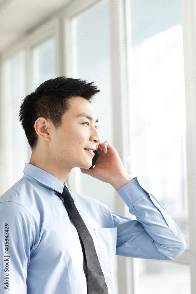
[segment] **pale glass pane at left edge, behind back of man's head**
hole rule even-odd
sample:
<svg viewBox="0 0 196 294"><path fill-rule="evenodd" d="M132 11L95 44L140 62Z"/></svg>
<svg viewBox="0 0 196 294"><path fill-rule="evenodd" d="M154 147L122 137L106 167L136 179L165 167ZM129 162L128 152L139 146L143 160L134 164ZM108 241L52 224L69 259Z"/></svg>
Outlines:
<svg viewBox="0 0 196 294"><path fill-rule="evenodd" d="M15 54L4 61L2 71L2 185L1 194L23 176L28 157L28 141L19 122L21 101L28 92L25 85L25 53Z"/></svg>

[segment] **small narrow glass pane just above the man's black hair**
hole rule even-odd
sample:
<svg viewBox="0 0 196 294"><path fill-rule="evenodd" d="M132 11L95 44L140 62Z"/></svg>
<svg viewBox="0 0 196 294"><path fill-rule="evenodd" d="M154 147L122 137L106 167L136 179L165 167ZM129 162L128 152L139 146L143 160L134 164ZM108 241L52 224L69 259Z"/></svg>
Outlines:
<svg viewBox="0 0 196 294"><path fill-rule="evenodd" d="M52 37L41 44L32 47L32 81L39 84L50 78L56 77L56 67L53 63L55 59L55 38Z"/></svg>

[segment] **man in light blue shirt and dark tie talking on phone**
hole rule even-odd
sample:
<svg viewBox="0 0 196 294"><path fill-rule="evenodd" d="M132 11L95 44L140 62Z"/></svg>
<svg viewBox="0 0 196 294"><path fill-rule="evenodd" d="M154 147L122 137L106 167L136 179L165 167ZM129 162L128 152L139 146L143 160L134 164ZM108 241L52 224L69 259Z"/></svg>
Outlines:
<svg viewBox="0 0 196 294"><path fill-rule="evenodd" d="M97 92L92 82L58 77L21 104L19 117L32 155L24 176L0 197L1 293L112 294L115 254L172 260L185 250L163 206L126 173L115 148L101 140L89 102ZM96 149L100 155L89 169ZM70 195L66 178L74 167L112 185L137 220L80 193ZM77 212L71 215L66 199L74 203L88 239L79 233ZM103 290L93 288L99 278Z"/></svg>

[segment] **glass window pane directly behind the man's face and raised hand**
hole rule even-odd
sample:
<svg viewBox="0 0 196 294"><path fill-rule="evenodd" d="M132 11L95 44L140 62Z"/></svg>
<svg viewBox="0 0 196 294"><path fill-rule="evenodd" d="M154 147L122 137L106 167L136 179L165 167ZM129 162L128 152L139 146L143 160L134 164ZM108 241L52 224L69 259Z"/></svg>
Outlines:
<svg viewBox="0 0 196 294"><path fill-rule="evenodd" d="M100 89L92 101L98 122L98 132L103 141L113 144L112 113L104 114L111 103L110 72L110 34L108 15L101 18L108 1L101 1L90 9L71 19L72 69L74 78L82 78ZM91 24L91 25L89 25ZM78 187L76 192L96 198L111 207L113 187L81 173L78 169Z"/></svg>

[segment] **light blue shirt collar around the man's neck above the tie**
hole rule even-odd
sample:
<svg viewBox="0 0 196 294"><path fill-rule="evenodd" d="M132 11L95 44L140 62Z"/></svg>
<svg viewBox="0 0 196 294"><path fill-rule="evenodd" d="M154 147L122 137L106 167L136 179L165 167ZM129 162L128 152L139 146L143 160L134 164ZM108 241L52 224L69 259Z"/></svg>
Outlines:
<svg viewBox="0 0 196 294"><path fill-rule="evenodd" d="M67 186L66 180L65 180L65 183L63 184L61 183L61 181L59 181L57 178L52 176L50 173L47 173L43 169L27 162L25 163L23 173L24 173L24 176L23 176L24 178L29 178L33 181L36 181L61 194L63 193L63 187Z"/></svg>

